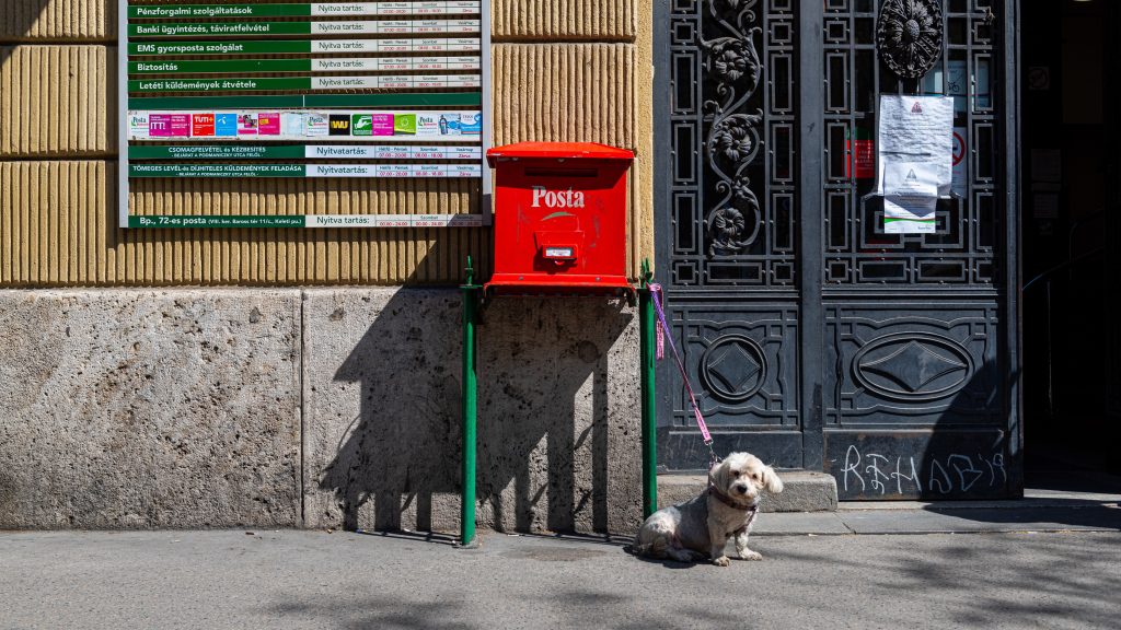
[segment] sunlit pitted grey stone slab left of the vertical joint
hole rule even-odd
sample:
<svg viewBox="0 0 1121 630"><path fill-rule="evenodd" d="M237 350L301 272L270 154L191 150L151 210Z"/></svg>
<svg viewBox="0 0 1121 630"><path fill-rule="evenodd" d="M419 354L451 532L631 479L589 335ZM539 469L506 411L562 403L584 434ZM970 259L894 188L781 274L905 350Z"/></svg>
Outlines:
<svg viewBox="0 0 1121 630"><path fill-rule="evenodd" d="M0 528L299 525L299 294L0 291Z"/></svg>

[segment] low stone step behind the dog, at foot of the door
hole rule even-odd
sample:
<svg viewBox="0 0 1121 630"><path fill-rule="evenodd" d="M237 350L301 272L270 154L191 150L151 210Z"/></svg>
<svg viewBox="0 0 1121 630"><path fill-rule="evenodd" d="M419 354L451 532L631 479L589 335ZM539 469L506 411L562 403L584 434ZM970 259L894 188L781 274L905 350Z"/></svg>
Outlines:
<svg viewBox="0 0 1121 630"><path fill-rule="evenodd" d="M837 484L833 475L812 471L785 471L782 492L763 493L759 510L763 512L824 512L837 509ZM708 484L703 474L659 474L658 507L687 501Z"/></svg>

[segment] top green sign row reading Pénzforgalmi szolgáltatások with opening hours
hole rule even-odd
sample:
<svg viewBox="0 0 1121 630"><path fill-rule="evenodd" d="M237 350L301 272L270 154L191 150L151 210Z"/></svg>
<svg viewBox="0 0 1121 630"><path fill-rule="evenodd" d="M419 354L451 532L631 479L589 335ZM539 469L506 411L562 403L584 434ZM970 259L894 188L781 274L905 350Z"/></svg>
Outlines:
<svg viewBox="0 0 1121 630"><path fill-rule="evenodd" d="M281 4L132 4L130 18L259 18L303 16L467 16L479 0L314 2Z"/></svg>

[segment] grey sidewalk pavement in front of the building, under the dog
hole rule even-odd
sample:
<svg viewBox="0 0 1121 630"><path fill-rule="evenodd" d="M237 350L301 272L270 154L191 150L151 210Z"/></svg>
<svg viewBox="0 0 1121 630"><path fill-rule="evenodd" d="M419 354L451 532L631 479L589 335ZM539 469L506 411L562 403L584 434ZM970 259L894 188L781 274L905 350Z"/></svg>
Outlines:
<svg viewBox="0 0 1121 630"><path fill-rule="evenodd" d="M721 568L502 534L464 550L353 532L0 532L0 628L1118 626L1117 532L759 536L752 548L762 562Z"/></svg>

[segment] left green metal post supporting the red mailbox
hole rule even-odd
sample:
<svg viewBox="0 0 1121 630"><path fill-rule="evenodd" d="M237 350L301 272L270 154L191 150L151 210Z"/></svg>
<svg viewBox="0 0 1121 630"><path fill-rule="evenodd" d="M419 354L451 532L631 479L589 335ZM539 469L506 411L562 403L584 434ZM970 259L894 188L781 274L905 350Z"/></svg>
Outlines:
<svg viewBox="0 0 1121 630"><path fill-rule="evenodd" d="M460 506L460 545L475 543L475 316L479 287L474 284L471 257L467 257L467 282L463 291L463 493Z"/></svg>

